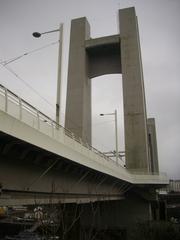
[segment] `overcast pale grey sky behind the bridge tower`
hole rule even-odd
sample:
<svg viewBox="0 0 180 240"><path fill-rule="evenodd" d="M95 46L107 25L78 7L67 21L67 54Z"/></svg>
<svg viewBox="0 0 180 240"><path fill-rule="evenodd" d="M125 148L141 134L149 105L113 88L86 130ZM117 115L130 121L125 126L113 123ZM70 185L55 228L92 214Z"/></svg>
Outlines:
<svg viewBox="0 0 180 240"><path fill-rule="evenodd" d="M56 29L64 23L63 114L70 21L86 16L91 37L117 34L118 9L136 9L139 22L148 117L156 118L160 170L180 178L180 1L179 0L0 0L0 61L56 42L58 33L32 37L34 31ZM0 66L0 83L54 118L58 44L9 64L32 89ZM93 145L114 149L114 122L99 113L118 110L119 142L124 149L121 75L92 79Z"/></svg>

